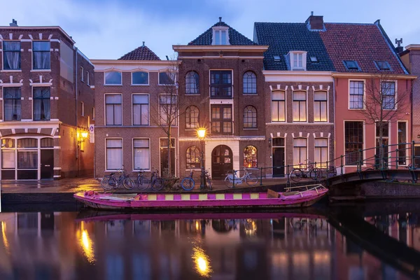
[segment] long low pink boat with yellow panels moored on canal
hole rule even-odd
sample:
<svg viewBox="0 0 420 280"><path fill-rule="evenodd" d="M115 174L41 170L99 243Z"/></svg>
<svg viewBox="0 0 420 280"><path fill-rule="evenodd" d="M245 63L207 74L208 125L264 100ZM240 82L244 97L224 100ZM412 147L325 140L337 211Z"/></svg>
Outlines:
<svg viewBox="0 0 420 280"><path fill-rule="evenodd" d="M109 194L94 191L74 194L87 207L96 209L238 209L309 207L328 189L321 184L288 188L277 193L139 193Z"/></svg>

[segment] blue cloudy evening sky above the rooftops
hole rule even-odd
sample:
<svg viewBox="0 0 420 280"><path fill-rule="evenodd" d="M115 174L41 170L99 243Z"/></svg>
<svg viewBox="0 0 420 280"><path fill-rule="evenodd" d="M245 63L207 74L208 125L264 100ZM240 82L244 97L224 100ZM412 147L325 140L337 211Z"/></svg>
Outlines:
<svg viewBox="0 0 420 280"><path fill-rule="evenodd" d="M223 21L251 40L254 22L381 20L391 41L420 43L419 0L0 0L0 26L60 26L90 59L118 59L146 42L161 59Z"/></svg>

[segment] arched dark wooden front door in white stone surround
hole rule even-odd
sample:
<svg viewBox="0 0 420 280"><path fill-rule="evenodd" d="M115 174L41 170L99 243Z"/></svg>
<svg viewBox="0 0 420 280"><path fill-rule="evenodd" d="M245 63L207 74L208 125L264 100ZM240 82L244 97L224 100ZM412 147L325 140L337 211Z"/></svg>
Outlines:
<svg viewBox="0 0 420 280"><path fill-rule="evenodd" d="M211 152L211 177L225 179L226 173L232 172L233 155L228 146L219 145Z"/></svg>

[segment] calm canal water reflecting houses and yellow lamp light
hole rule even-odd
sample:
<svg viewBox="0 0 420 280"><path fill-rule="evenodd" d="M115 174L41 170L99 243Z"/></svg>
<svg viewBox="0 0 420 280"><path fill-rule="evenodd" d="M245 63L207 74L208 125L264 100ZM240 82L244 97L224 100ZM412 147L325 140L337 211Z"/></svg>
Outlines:
<svg viewBox="0 0 420 280"><path fill-rule="evenodd" d="M412 279L412 267L400 269L314 214L50 211L1 213L0 221L2 280ZM363 221L420 250L412 214Z"/></svg>

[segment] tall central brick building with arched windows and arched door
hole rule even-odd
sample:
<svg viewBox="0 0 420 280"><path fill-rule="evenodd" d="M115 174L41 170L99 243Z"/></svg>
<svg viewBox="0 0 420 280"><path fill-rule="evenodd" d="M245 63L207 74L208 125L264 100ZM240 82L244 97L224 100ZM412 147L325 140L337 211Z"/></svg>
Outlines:
<svg viewBox="0 0 420 280"><path fill-rule="evenodd" d="M188 43L174 45L179 60L179 174L204 165L214 179L244 167L263 167L266 158L263 53L238 31L219 22ZM205 127L201 146L197 128ZM196 173L197 176L199 173Z"/></svg>

